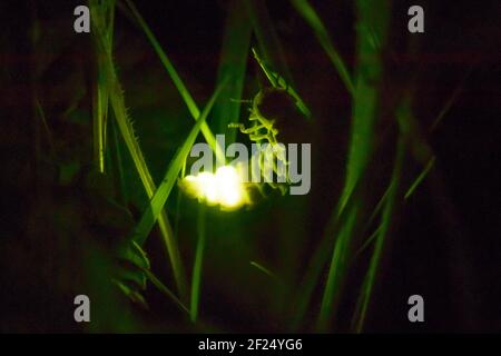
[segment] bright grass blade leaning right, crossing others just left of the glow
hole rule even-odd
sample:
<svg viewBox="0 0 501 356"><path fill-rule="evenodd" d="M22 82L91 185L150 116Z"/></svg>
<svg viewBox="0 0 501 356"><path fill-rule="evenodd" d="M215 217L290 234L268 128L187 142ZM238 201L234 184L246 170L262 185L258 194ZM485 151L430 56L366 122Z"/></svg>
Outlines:
<svg viewBox="0 0 501 356"><path fill-rule="evenodd" d="M136 240L139 245L143 245L143 243L146 240L149 233L151 231L151 228L155 225L155 221L159 217L160 211L163 211L164 205L167 201L167 198L169 197L169 194L177 181L177 177L183 168L183 165L185 164L186 157L188 156L189 150L191 149L191 146L194 145L198 136L198 132L200 131L200 127L207 119L207 115L213 108L214 102L216 98L219 96L223 87L224 86L220 85L213 93L207 106L202 112L200 118L196 121L195 126L189 131L189 135L186 138L185 142L179 148L174 159L170 161L169 167L167 168L167 172L165 174L164 180L158 186L158 189L155 191L150 200L150 204L146 208L146 211L143 214L139 224L136 226L132 233L132 239Z"/></svg>

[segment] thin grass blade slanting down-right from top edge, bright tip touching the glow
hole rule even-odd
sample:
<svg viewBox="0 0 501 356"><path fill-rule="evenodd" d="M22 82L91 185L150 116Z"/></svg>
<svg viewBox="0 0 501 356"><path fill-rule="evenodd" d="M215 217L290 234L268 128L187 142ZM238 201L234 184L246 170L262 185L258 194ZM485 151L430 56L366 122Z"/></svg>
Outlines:
<svg viewBox="0 0 501 356"><path fill-rule="evenodd" d="M193 118L195 120L198 120L200 116L200 111L193 99L191 95L189 93L188 89L186 88L185 83L180 79L179 75L177 73L176 69L174 68L170 59L165 53L164 49L161 48L160 43L158 42L155 34L151 32L149 26L146 23L143 16L137 10L136 6L131 0L124 0L127 6L129 7L130 11L132 12L134 17L136 18L139 27L145 32L146 37L148 38L148 41L150 42L151 47L154 48L155 52L157 53L158 58L160 59L161 63L164 65L164 68L167 70L170 79L173 80L174 85L176 86L177 90L179 91L179 95L181 96L183 100L185 101L189 112L191 113ZM210 131L210 128L206 122L202 126L202 134L204 135L205 140L207 144L213 148L214 152L216 154L216 158L219 162L225 161L225 155L222 150L222 148L218 146L216 138L214 137L214 134Z"/></svg>

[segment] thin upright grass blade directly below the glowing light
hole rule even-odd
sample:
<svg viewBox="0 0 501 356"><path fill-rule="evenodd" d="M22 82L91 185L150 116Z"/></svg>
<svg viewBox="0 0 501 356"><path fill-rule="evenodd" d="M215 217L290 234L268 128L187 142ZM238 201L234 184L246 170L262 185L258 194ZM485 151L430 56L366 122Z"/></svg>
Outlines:
<svg viewBox="0 0 501 356"><path fill-rule="evenodd" d="M202 265L204 260L204 248L205 248L205 222L206 222L205 207L200 205L198 208L198 220L197 220L198 239L191 276L190 318L193 323L196 323L197 320L198 304L200 300Z"/></svg>

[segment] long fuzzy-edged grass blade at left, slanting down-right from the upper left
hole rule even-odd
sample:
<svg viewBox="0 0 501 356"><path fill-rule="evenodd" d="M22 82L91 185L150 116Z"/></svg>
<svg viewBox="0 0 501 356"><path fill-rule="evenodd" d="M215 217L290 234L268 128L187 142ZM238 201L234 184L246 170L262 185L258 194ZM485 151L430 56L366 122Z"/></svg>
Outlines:
<svg viewBox="0 0 501 356"><path fill-rule="evenodd" d="M90 10L92 19L99 19L100 12L96 8L96 6L91 6ZM101 21L91 21L91 23L92 36L95 38L98 56L102 58L102 60L99 61L99 70L102 70L102 72L105 73L104 83L106 83L107 86L106 91L109 93L109 100L115 113L115 119L117 120L121 137L124 138L124 141L130 152L139 178L143 182L143 186L145 187L146 194L148 198L151 198L154 196L154 192L156 191L156 186L149 172L148 166L146 165L143 151L139 147L139 142L137 141L134 134L130 118L127 115L124 91L115 70L115 65L111 57L111 48L107 46L106 36L102 34L102 28L100 26ZM161 214L159 214L158 225L160 227L161 237L164 239L164 244L167 248L167 253L170 259L176 286L181 298L185 298L187 296L187 288L184 267L180 259L179 248L177 247L177 241L173 236L170 224L165 211L161 211Z"/></svg>

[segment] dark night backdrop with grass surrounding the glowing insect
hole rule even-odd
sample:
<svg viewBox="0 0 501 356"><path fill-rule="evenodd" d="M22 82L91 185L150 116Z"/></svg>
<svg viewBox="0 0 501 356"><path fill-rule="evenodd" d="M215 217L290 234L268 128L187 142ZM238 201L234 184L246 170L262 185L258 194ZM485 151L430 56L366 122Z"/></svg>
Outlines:
<svg viewBox="0 0 501 356"><path fill-rule="evenodd" d="M501 332L499 1L79 4L0 3L0 332ZM281 83L310 192L183 191Z"/></svg>

